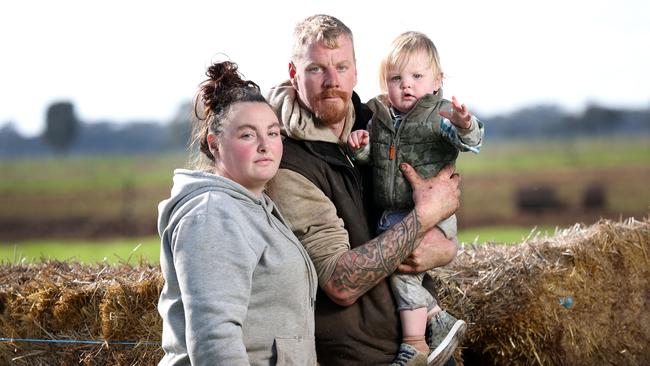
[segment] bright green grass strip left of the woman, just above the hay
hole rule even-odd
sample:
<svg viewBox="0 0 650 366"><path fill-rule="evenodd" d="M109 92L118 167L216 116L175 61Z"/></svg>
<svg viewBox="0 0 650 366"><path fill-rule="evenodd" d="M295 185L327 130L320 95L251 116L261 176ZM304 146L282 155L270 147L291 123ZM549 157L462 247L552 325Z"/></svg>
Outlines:
<svg viewBox="0 0 650 366"><path fill-rule="evenodd" d="M158 263L157 236L111 240L31 240L0 243L0 262L33 263L48 259L81 263L137 264L140 259Z"/></svg>

